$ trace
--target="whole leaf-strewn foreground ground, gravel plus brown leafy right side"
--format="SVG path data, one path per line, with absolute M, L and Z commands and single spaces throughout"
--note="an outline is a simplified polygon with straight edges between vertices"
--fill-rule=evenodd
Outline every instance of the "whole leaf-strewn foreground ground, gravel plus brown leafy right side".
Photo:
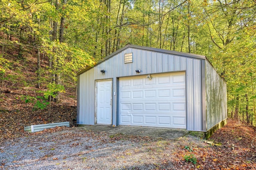
M 254 170 L 254 130 L 237 124 L 229 120 L 210 138 L 221 145 L 191 135 L 172 141 L 55 127 L 2 141 L 0 168 Z

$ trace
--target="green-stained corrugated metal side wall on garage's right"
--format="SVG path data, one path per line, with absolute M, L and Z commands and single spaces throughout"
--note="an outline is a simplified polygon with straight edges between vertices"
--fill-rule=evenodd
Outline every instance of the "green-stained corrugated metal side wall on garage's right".
M 226 82 L 206 60 L 207 130 L 227 118 Z

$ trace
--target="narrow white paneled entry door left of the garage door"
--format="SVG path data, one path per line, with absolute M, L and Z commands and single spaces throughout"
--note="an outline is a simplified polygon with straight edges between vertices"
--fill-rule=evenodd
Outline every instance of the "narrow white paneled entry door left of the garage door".
M 97 82 L 96 117 L 98 124 L 112 123 L 112 80 Z

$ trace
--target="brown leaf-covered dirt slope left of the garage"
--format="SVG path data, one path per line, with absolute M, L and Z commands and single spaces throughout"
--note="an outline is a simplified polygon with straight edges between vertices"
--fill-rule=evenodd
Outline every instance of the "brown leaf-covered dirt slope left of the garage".
M 23 135 L 24 126 L 29 125 L 62 121 L 76 125 L 76 83 L 65 82 L 66 92 L 62 93 L 59 103 L 51 103 L 51 109 L 49 105 L 45 109 L 34 109 L 35 99 L 43 96 L 40 91 L 46 90 L 48 83 L 48 59 L 41 54 L 41 77 L 45 81 L 42 81 L 40 88 L 36 88 L 36 51 L 23 47 L 22 56 L 19 56 L 18 45 L 4 48 L 5 62 L 2 67 L 5 72 L 0 72 L 0 140 Z M 26 103 L 26 99 L 30 102 Z

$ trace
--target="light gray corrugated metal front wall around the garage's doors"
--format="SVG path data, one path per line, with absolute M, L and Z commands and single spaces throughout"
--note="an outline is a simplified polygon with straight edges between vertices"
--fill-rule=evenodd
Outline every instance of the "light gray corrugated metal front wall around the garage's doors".
M 133 63 L 124 64 L 125 53 L 133 53 Z M 105 70 L 105 74 L 101 74 L 100 70 Z M 141 72 L 136 73 L 135 70 Z M 94 125 L 95 80 L 113 78 L 113 124 L 118 125 L 118 77 L 184 70 L 187 85 L 187 130 L 202 131 L 202 59 L 131 47 L 78 76 L 77 123 Z

